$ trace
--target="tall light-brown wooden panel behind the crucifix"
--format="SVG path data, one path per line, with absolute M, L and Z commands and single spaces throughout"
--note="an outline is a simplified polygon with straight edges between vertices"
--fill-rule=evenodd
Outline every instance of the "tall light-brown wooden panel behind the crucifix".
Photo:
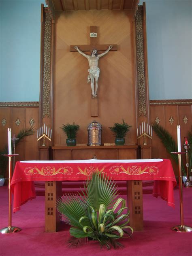
M 80 125 L 77 143 L 87 143 L 87 125 L 102 124 L 102 143 L 113 143 L 109 130 L 122 118 L 132 125 L 126 144 L 136 143 L 135 37 L 133 13 L 126 11 L 58 12 L 55 15 L 55 65 L 53 145 L 65 145 L 60 127 Z M 91 117 L 91 87 L 87 84 L 88 61 L 70 45 L 90 44 L 90 26 L 98 26 L 99 44 L 117 44 L 117 51 L 100 58 L 98 66 L 98 117 Z M 85 52 L 90 54 L 90 52 Z

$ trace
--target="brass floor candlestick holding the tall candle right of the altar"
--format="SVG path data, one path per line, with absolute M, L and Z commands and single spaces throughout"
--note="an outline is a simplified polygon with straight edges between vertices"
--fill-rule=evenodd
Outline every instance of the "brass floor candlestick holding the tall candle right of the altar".
M 186 152 L 171 152 L 171 153 L 178 154 L 178 159 L 179 159 L 179 198 L 180 198 L 180 219 L 181 219 L 181 225 L 174 226 L 171 229 L 177 232 L 191 232 L 192 228 L 185 226 L 183 221 L 183 189 L 182 189 L 182 173 L 181 173 L 181 154 L 186 154 Z

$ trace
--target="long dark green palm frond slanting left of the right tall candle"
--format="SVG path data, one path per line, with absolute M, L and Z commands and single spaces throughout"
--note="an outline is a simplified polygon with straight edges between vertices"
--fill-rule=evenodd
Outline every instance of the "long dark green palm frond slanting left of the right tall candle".
M 178 156 L 176 154 L 171 154 L 171 152 L 177 152 L 177 145 L 171 134 L 156 122 L 152 122 L 151 125 L 153 126 L 154 132 L 161 140 L 167 152 L 170 154 L 171 158 L 178 164 Z M 181 169 L 183 171 L 183 175 L 186 175 L 183 162 L 181 162 Z

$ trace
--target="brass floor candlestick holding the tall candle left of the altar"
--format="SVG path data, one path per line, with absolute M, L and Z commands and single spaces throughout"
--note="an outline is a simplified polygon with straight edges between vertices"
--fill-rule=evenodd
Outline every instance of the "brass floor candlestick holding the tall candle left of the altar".
M 12 226 L 12 215 L 11 215 L 11 178 L 12 178 L 12 172 L 11 172 L 11 158 L 12 156 L 18 156 L 18 154 L 13 155 L 2 155 L 9 157 L 9 222 L 8 227 L 0 229 L 0 233 L 2 234 L 8 234 L 8 233 L 17 233 L 21 231 L 21 228 L 13 227 Z

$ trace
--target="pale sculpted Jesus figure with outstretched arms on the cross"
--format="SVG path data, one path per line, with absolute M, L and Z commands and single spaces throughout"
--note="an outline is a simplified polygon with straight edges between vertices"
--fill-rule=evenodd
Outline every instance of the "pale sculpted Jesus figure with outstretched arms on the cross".
M 89 62 L 90 68 L 88 69 L 89 75 L 87 77 L 87 83 L 90 83 L 91 81 L 91 90 L 92 90 L 92 96 L 93 98 L 97 97 L 97 89 L 98 89 L 98 78 L 100 69 L 98 68 L 98 60 L 100 57 L 108 53 L 112 49 L 113 45 L 110 45 L 109 48 L 101 54 L 97 54 L 97 49 L 94 49 L 91 53 L 91 55 L 86 55 L 83 53 L 77 46 L 74 46 L 74 48 L 82 54 L 85 58 L 87 58 Z M 95 87 L 94 87 L 95 84 Z

